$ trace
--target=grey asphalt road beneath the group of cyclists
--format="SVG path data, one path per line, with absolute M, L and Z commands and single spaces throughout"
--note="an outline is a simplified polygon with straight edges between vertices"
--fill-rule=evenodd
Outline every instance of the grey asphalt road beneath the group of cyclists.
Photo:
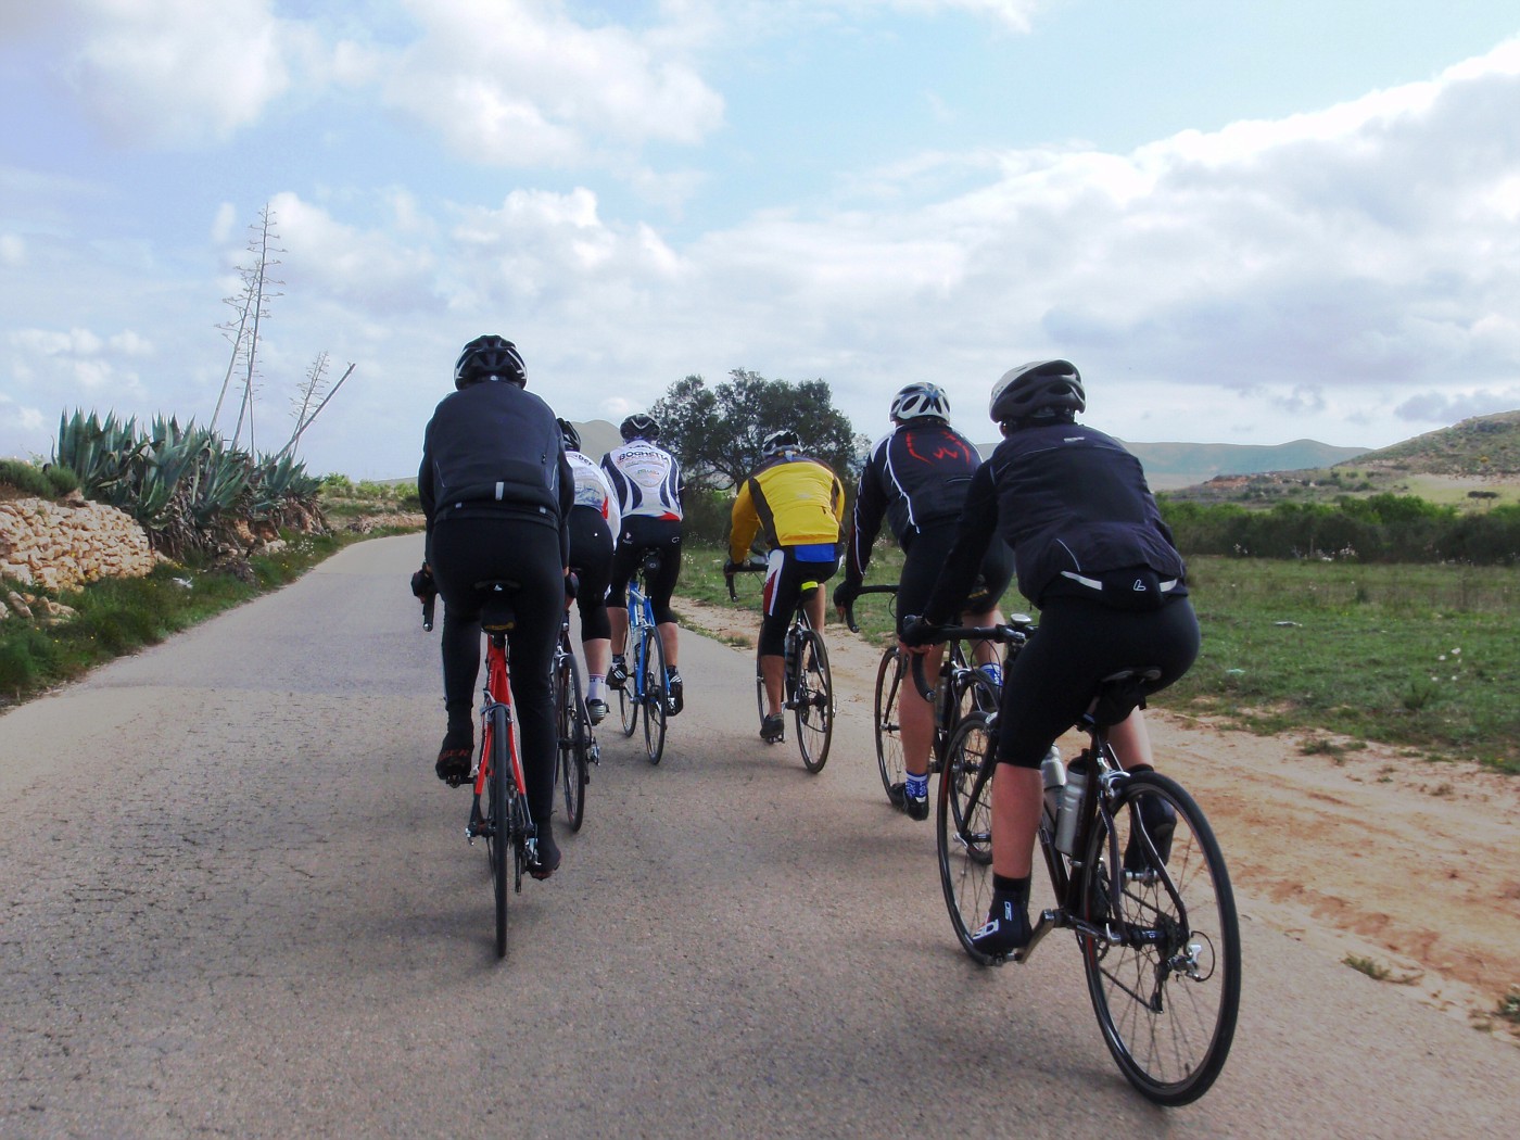
M 1520 1050 L 1249 898 L 1224 1076 L 1151 1107 L 1069 939 L 959 952 L 869 695 L 810 777 L 757 739 L 748 655 L 693 634 L 664 763 L 603 725 L 499 962 L 468 795 L 432 772 L 420 552 L 351 547 L 0 717 L 0 1135 L 1511 1134 Z

